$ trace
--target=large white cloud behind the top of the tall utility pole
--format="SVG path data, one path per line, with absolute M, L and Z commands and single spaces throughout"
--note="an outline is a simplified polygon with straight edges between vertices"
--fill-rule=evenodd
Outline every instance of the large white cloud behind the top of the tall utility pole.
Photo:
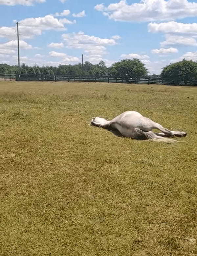
M 30 39 L 35 35 L 41 35 L 43 30 L 55 30 L 55 31 L 65 31 L 64 24 L 72 24 L 76 21 L 70 21 L 66 18 L 57 19 L 53 15 L 46 15 L 44 17 L 37 18 L 26 18 L 20 20 L 19 31 L 20 39 Z M 16 27 L 1 27 L 0 37 L 7 37 L 9 39 L 16 38 Z

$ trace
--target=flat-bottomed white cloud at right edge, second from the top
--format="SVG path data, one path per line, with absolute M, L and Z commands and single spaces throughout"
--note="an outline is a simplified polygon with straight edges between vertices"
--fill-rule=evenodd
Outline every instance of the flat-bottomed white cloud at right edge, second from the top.
M 197 23 L 181 23 L 175 21 L 163 23 L 149 23 L 148 32 L 172 33 L 172 34 L 197 34 Z

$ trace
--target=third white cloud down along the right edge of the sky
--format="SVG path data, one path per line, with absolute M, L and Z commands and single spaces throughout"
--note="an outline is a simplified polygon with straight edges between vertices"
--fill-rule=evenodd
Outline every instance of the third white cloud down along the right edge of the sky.
M 176 35 L 165 35 L 165 41 L 161 42 L 162 47 L 166 45 L 190 45 L 197 46 L 197 41 L 192 37 L 176 36 Z

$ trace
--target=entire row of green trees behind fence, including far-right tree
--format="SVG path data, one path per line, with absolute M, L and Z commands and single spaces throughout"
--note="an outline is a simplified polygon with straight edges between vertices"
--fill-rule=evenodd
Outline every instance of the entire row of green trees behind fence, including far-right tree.
M 172 80 L 174 83 L 187 84 L 188 81 L 197 80 L 197 62 L 192 60 L 185 60 L 169 64 L 165 66 L 159 75 L 153 74 L 149 76 L 149 72 L 139 59 L 123 59 L 106 67 L 104 61 L 100 61 L 99 64 L 92 64 L 86 61 L 83 64 L 78 63 L 75 65 L 59 65 L 43 66 L 38 65 L 28 66 L 22 64 L 20 67 L 21 74 L 32 75 L 65 75 L 65 76 L 113 76 L 124 78 L 140 78 L 140 77 L 158 77 L 166 80 Z M 0 73 L 3 74 L 17 74 L 18 66 L 10 66 L 8 64 L 0 64 Z

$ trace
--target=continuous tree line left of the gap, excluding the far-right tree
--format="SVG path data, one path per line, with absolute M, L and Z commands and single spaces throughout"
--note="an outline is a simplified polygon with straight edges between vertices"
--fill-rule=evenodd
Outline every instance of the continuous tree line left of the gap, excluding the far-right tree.
M 10 66 L 8 64 L 0 64 L 0 73 L 17 74 L 18 66 Z M 139 59 L 125 59 L 116 62 L 111 67 L 106 67 L 104 61 L 99 64 L 92 64 L 86 61 L 83 66 L 81 63 L 75 65 L 59 65 L 43 66 L 38 65 L 28 66 L 22 64 L 20 67 L 21 74 L 31 75 L 65 75 L 65 76 L 116 76 L 116 77 L 141 77 L 148 74 L 145 65 Z

